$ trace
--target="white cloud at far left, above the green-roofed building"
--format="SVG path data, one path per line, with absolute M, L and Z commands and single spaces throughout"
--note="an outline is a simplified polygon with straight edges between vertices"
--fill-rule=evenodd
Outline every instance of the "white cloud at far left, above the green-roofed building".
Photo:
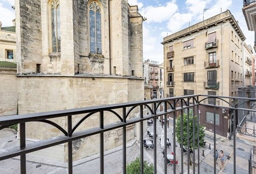
M 7 0 L 5 0 L 5 1 L 7 1 Z M 11 3 L 12 0 L 8 0 L 7 2 Z M 11 26 L 12 20 L 14 18 L 15 18 L 15 11 L 12 9 L 5 8 L 3 6 L 3 3 L 0 2 L 0 21 L 2 22 L 2 26 Z

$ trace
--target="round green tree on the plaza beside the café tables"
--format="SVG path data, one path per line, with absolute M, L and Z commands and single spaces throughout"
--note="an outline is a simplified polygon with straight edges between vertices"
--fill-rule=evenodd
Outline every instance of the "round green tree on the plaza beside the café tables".
M 198 144 L 197 144 L 197 140 L 198 140 L 198 131 L 197 131 L 197 119 L 198 117 L 195 115 L 194 116 L 194 132 L 193 132 L 193 112 L 189 113 L 189 117 L 187 116 L 186 113 L 183 114 L 183 125 L 181 125 L 181 115 L 179 115 L 179 117 L 177 118 L 176 121 L 176 137 L 177 137 L 177 141 L 181 144 L 181 129 L 183 127 L 183 145 L 187 146 L 188 144 L 188 138 L 189 138 L 189 143 L 190 143 L 190 147 L 188 148 L 188 153 L 189 153 L 189 149 L 193 149 L 193 136 L 195 138 L 195 149 L 198 149 Z M 188 137 L 188 130 L 187 130 L 187 121 L 189 119 L 189 137 Z M 199 125 L 199 146 L 203 147 L 204 144 L 204 136 L 205 136 L 205 131 L 204 131 L 204 126 Z M 190 158 L 190 165 L 192 165 L 191 163 L 191 158 Z

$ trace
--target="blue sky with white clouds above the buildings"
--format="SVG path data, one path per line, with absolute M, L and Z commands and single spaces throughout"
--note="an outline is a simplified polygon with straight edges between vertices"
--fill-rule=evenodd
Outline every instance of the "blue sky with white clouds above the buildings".
M 141 15 L 147 18 L 143 22 L 143 57 L 163 62 L 163 45 L 167 35 L 194 25 L 204 19 L 229 9 L 243 31 L 247 44 L 253 46 L 254 32 L 248 31 L 242 12 L 243 0 L 128 0 L 130 5 L 138 5 Z M 0 0 L 0 21 L 2 26 L 12 25 L 15 11 L 11 8 L 14 0 Z

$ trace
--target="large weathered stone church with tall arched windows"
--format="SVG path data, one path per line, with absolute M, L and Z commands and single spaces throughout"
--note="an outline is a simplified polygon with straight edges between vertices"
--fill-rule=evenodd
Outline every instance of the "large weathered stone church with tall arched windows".
M 15 4 L 19 114 L 144 99 L 144 18 L 137 6 L 127 0 L 16 0 Z M 137 112 L 135 108 L 127 119 Z M 83 117 L 72 116 L 72 126 Z M 66 119 L 52 121 L 66 128 Z M 77 131 L 97 127 L 98 121 L 95 113 Z M 104 113 L 104 124 L 115 121 L 119 121 L 115 114 Z M 135 138 L 137 129 L 127 127 L 127 141 Z M 49 124 L 26 124 L 28 142 L 62 134 Z M 104 136 L 104 150 L 122 144 L 122 129 Z M 98 153 L 98 138 L 73 141 L 77 147 L 73 160 Z M 29 155 L 65 162 L 67 147 L 61 144 Z

